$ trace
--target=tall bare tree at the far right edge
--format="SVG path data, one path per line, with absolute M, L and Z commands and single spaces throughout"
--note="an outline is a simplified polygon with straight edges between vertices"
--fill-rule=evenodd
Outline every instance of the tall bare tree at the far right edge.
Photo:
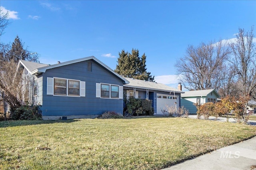
M 230 44 L 234 57 L 229 61 L 241 84 L 240 95 L 243 96 L 252 96 L 256 88 L 256 49 L 253 38 L 253 27 L 249 32 L 239 28 L 235 42 Z

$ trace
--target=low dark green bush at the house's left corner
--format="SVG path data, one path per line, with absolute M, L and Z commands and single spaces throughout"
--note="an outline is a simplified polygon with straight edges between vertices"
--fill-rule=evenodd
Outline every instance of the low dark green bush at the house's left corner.
M 34 105 L 28 106 L 24 105 L 14 110 L 11 118 L 14 120 L 38 120 L 42 119 L 41 106 Z

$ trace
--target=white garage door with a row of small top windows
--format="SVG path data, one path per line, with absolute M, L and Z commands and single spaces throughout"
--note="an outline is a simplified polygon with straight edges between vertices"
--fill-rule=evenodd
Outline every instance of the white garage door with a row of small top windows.
M 177 109 L 179 108 L 178 96 L 166 95 L 166 94 L 156 94 L 156 113 L 163 114 L 162 110 L 168 107 L 173 107 L 175 109 L 175 102 L 177 103 Z

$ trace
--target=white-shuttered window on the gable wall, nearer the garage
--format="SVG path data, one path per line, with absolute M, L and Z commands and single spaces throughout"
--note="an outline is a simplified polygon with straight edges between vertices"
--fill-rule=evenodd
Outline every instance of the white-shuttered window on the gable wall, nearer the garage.
M 123 86 L 116 84 L 96 83 L 96 98 L 122 99 Z

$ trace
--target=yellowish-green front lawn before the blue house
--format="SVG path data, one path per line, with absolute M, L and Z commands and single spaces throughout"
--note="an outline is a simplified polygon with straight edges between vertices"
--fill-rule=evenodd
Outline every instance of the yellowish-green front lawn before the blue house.
M 254 135 L 181 117 L 1 121 L 0 169 L 161 169 Z

